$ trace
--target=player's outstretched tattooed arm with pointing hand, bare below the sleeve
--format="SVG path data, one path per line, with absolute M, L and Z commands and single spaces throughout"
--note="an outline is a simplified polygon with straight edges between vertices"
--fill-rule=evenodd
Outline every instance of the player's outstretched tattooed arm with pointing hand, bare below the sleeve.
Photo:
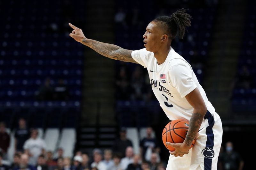
M 69 34 L 70 37 L 74 38 L 76 41 L 84 44 L 85 46 L 92 48 L 97 53 L 111 59 L 137 63 L 132 59 L 132 50 L 124 49 L 114 44 L 88 39 L 84 36 L 82 29 L 77 28 L 70 23 L 69 26 L 74 29 L 72 33 Z

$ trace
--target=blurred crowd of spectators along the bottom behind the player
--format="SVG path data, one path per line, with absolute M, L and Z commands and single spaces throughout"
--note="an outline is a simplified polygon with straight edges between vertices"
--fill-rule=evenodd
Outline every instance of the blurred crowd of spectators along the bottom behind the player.
M 44 140 L 38 137 L 36 129 L 29 130 L 24 119 L 19 120 L 15 130 L 15 153 L 12 162 L 7 159 L 10 136 L 4 122 L 0 122 L 0 169 L 1 170 L 165 170 L 166 162 L 161 161 L 160 147 L 147 128 L 147 136 L 140 141 L 140 153 L 135 154 L 126 129 L 120 130 L 112 148 L 92 150 L 92 153 L 77 151 L 73 159 L 64 157 L 65 148 L 58 148 L 55 156 L 46 151 Z M 234 151 L 231 142 L 226 143 L 226 152 L 221 148 L 219 169 L 242 170 L 244 161 Z

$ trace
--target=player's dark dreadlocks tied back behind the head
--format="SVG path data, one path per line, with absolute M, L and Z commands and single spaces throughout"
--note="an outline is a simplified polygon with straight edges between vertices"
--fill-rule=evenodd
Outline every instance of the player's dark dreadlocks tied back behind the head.
M 183 39 L 185 31 L 188 26 L 191 26 L 192 17 L 186 13 L 187 10 L 179 9 L 172 13 L 171 16 L 161 16 L 157 17 L 153 21 L 159 22 L 160 24 L 167 26 L 166 34 L 170 34 L 171 39 L 175 38 L 177 33 L 179 33 L 179 38 Z

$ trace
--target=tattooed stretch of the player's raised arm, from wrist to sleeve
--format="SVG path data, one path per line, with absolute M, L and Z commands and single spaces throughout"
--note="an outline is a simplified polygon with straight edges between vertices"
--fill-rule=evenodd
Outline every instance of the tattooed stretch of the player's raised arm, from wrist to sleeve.
M 132 50 L 121 48 L 114 44 L 103 43 L 100 41 L 84 39 L 82 44 L 92 48 L 97 53 L 115 60 L 137 63 L 132 58 Z

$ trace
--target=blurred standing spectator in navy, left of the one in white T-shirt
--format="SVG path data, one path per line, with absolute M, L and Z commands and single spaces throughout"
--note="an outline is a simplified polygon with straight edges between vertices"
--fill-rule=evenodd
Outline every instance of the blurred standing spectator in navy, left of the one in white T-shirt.
M 29 138 L 29 129 L 27 128 L 26 120 L 20 118 L 19 128 L 15 131 L 15 150 L 23 152 L 23 145 Z

